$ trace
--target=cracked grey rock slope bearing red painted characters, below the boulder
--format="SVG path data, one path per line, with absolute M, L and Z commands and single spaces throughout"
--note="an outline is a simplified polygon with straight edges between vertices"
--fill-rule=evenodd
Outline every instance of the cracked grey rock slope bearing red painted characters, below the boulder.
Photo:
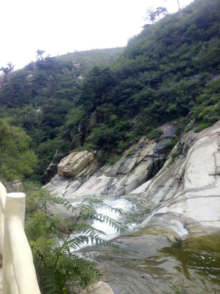
M 114 166 L 104 166 L 93 176 L 91 176 L 91 171 L 92 168 L 97 167 L 97 161 L 91 161 L 91 164 L 75 175 L 74 179 L 62 176 L 64 173 L 59 172 L 58 165 L 58 175 L 46 186 L 69 201 L 87 197 L 115 197 L 128 194 L 150 179 L 154 169 L 157 171 L 160 162 L 165 161 L 168 155 L 168 152 L 164 151 L 165 142 L 175 136 L 175 128 L 175 123 L 161 126 L 164 134 L 158 143 L 142 137 L 138 143 L 124 153 L 124 156 Z

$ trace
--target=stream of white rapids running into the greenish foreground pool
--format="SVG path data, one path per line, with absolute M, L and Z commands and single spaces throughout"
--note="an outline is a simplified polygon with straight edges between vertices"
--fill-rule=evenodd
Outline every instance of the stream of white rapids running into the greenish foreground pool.
M 119 251 L 105 247 L 84 246 L 79 251 L 99 265 L 104 281 L 115 294 L 146 293 L 220 293 L 220 232 L 183 225 L 176 218 L 154 218 L 145 227 L 141 222 L 151 209 L 146 200 L 120 198 L 106 200 L 123 209 L 120 216 L 108 206 L 97 210 L 121 221 L 130 234 L 120 236 L 103 223 L 93 226 L 114 238 Z M 176 288 L 178 286 L 179 292 Z

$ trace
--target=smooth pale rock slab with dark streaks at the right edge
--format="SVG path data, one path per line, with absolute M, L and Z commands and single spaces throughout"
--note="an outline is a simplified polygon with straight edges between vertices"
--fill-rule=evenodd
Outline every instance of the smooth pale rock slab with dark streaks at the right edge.
M 182 222 L 220 226 L 220 122 L 200 133 L 190 131 L 180 141 L 180 156 L 130 195 L 147 198 L 155 216 L 176 216 Z M 177 146 L 175 147 L 177 148 Z

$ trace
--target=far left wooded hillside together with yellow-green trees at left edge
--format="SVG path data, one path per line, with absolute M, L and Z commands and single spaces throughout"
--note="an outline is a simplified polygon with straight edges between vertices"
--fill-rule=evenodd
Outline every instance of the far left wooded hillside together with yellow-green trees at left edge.
M 62 126 L 66 115 L 75 108 L 74 99 L 83 77 L 94 66 L 110 66 L 122 51 L 123 48 L 94 49 L 46 58 L 40 51 L 36 62 L 23 69 L 10 71 L 9 66 L 2 70 L 1 180 L 30 178 L 34 171 L 33 179 L 42 181 L 42 174 L 53 160 L 57 147 L 63 145 L 60 137 L 65 127 Z M 86 109 L 83 111 L 86 113 Z M 24 136 L 26 139 L 22 143 Z M 20 143 L 17 144 L 17 141 Z M 69 146 L 65 147 L 66 151 Z M 27 151 L 32 157 L 23 161 L 22 170 L 18 168 L 21 165 L 20 156 L 24 157 L 21 152 Z M 15 159 L 18 162 L 14 166 Z

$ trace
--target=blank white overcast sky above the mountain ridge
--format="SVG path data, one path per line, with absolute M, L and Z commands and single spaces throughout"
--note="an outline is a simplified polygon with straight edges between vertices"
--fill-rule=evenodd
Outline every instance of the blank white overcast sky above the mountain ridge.
M 56 56 L 126 46 L 142 30 L 149 6 L 178 10 L 177 0 L 2 0 L 0 68 L 9 61 L 22 68 L 37 49 Z

